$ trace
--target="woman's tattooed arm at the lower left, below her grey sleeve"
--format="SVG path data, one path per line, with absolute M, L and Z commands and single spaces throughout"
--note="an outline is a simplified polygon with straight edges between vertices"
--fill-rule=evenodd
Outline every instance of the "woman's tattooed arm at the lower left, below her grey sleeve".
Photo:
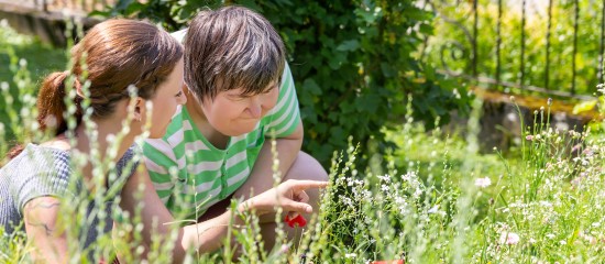
M 67 263 L 67 239 L 57 224 L 61 201 L 56 197 L 34 198 L 23 207 L 23 220 L 28 240 L 33 243 L 35 263 Z

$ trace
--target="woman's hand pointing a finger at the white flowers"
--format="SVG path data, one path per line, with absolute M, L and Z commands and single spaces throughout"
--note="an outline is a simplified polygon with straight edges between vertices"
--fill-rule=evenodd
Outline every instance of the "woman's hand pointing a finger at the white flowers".
M 239 210 L 254 210 L 256 215 L 274 212 L 277 207 L 284 211 L 310 213 L 312 207 L 307 204 L 309 196 L 305 193 L 309 188 L 324 188 L 328 182 L 288 179 L 267 191 L 254 196 L 240 205 Z

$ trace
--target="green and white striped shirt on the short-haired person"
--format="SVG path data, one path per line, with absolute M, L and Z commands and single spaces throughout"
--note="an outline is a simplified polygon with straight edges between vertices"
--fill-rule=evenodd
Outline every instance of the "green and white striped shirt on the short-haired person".
M 298 99 L 286 64 L 276 106 L 246 134 L 232 136 L 226 150 L 215 147 L 179 107 L 163 139 L 143 145 L 145 164 L 157 195 L 175 217 L 201 216 L 245 183 L 265 135 L 292 134 L 300 120 Z M 197 209 L 197 212 L 196 212 Z

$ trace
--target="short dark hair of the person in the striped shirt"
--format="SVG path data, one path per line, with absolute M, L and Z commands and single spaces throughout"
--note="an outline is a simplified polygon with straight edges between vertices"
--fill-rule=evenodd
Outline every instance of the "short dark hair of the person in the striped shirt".
M 242 7 L 199 12 L 185 37 L 185 82 L 200 100 L 242 88 L 264 92 L 279 81 L 285 47 L 261 14 Z

